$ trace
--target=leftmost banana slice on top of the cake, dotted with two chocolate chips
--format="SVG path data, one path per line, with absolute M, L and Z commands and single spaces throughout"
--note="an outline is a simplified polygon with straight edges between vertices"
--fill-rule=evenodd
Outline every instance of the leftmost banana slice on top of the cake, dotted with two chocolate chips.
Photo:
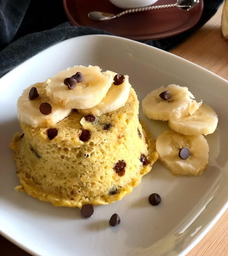
M 31 125 L 32 127 L 50 127 L 55 126 L 56 123 L 67 117 L 71 113 L 71 109 L 63 109 L 52 103 L 46 94 L 46 86 L 49 80 L 44 83 L 35 83 L 25 89 L 22 95 L 17 100 L 17 115 L 18 119 Z M 29 99 L 30 90 L 32 87 L 37 88 L 37 94 L 33 94 L 33 99 Z M 52 107 L 50 114 L 42 114 L 40 112 L 40 105 L 42 103 L 49 103 Z

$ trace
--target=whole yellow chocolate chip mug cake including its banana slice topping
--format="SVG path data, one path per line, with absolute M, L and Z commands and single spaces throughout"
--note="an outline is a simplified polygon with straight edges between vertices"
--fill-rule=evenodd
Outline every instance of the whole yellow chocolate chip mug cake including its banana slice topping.
M 54 206 L 121 200 L 158 155 L 138 119 L 128 76 L 74 66 L 25 89 L 17 102 L 22 133 L 14 151 L 16 187 Z

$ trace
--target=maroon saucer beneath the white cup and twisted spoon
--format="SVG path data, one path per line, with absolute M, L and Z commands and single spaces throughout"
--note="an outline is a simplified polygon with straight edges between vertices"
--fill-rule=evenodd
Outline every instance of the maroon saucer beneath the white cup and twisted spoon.
M 175 0 L 159 0 L 155 5 L 171 4 Z M 161 39 L 180 34 L 193 27 L 203 11 L 203 0 L 190 11 L 177 7 L 129 13 L 107 21 L 94 21 L 88 17 L 91 11 L 120 13 L 108 0 L 63 0 L 67 17 L 73 26 L 99 28 L 116 36 L 133 40 Z

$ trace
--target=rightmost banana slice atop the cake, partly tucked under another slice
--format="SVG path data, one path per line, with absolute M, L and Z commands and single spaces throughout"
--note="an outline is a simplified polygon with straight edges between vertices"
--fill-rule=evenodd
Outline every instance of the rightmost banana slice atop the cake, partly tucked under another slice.
M 102 74 L 104 74 L 105 76 L 111 76 L 112 80 L 115 75 L 117 75 L 112 71 L 106 71 Z M 84 115 L 91 113 L 95 116 L 100 116 L 102 114 L 109 113 L 124 106 L 128 99 L 131 88 L 131 85 L 128 81 L 128 76 L 125 75 L 124 77 L 125 80 L 120 85 L 114 85 L 112 83 L 106 96 L 95 107 L 88 109 L 79 109 L 78 111 Z

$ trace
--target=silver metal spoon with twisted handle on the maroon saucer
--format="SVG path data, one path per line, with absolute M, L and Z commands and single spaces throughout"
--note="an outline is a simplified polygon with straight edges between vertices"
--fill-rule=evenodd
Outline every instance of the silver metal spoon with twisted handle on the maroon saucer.
M 181 9 L 182 11 L 189 11 L 192 8 L 196 7 L 196 5 L 198 3 L 199 3 L 199 0 L 177 0 L 177 2 L 173 3 L 173 4 L 151 5 L 151 6 L 146 6 L 146 7 L 128 9 L 128 10 L 125 10 L 118 14 L 103 13 L 103 12 L 95 11 L 95 12 L 88 13 L 88 16 L 92 20 L 105 21 L 105 20 L 110 20 L 113 18 L 121 17 L 122 15 L 127 14 L 127 13 L 136 13 L 136 12 L 150 11 L 150 10 L 156 10 L 156 9 L 165 9 L 165 8 L 172 8 L 172 7 L 177 7 L 179 9 Z

